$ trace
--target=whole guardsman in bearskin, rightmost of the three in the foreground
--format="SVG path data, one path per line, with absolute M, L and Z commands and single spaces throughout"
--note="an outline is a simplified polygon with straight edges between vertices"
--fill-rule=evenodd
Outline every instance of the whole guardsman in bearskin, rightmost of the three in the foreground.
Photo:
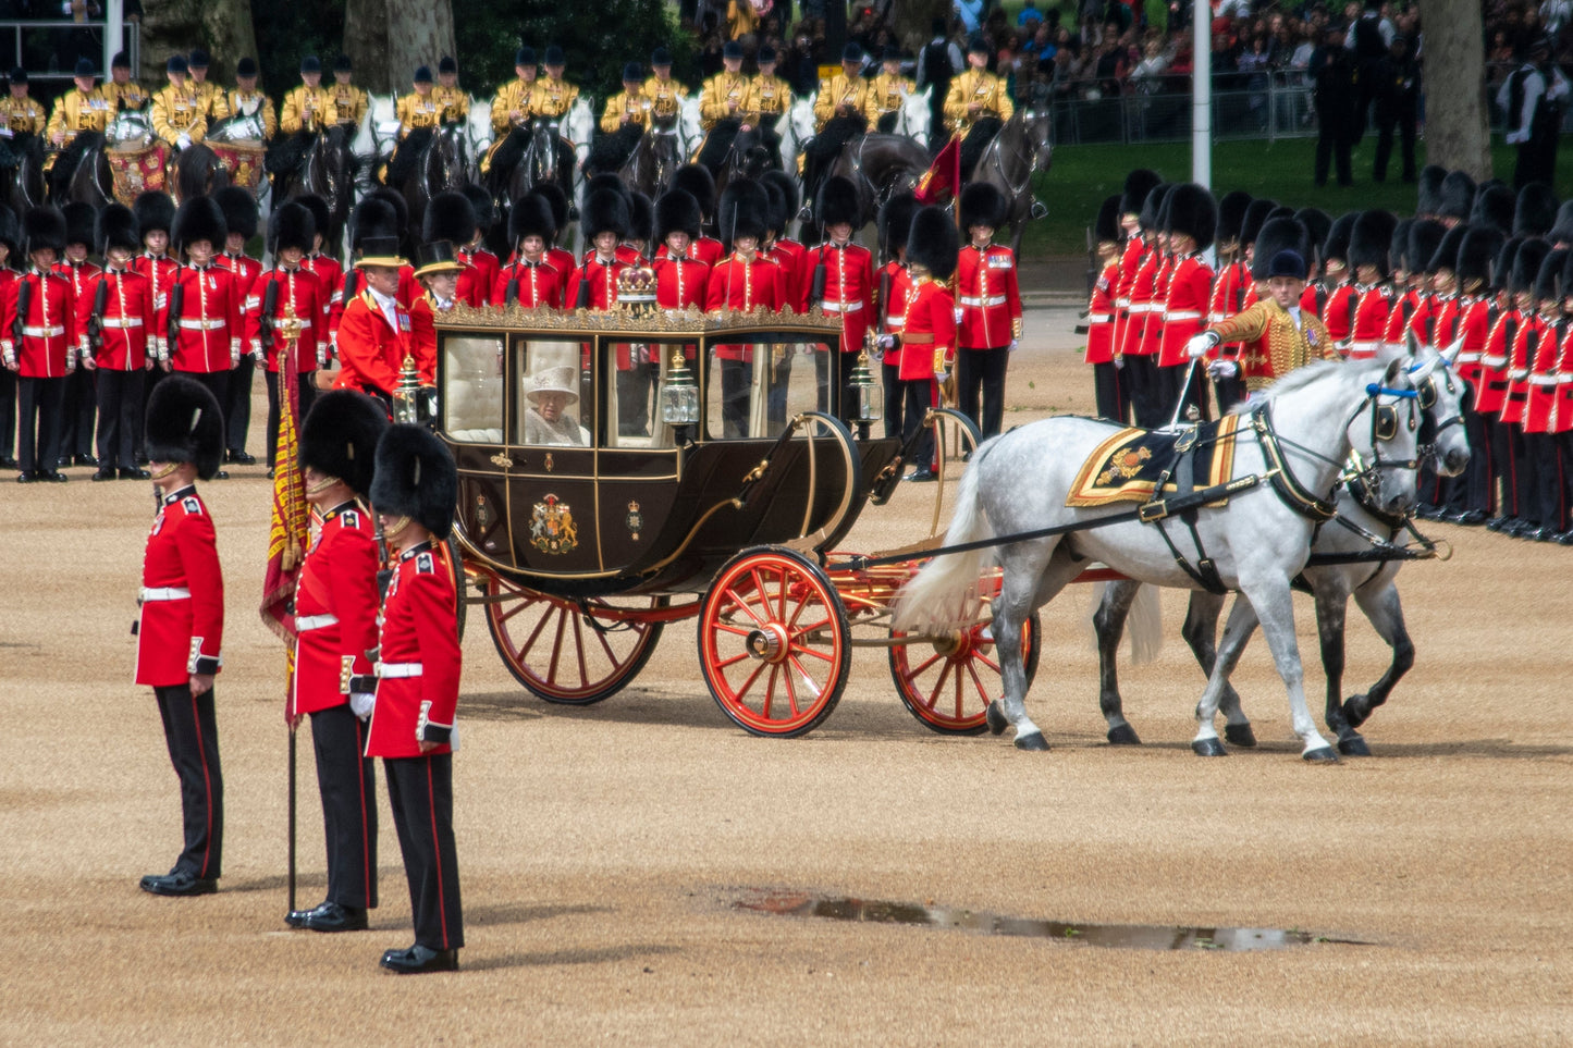
M 371 505 L 398 562 L 382 603 L 367 755 L 382 757 L 415 917 L 415 943 L 382 955 L 401 974 L 453 971 L 464 946 L 453 843 L 461 568 L 445 546 L 458 496 L 453 458 L 431 431 L 401 425 L 382 436 Z

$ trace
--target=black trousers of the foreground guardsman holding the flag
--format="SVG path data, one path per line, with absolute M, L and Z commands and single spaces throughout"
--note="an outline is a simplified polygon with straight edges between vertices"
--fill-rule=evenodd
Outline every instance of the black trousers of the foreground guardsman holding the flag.
M 351 910 L 378 905 L 378 793 L 367 725 L 348 705 L 311 714 L 316 787 L 327 840 L 327 902 Z

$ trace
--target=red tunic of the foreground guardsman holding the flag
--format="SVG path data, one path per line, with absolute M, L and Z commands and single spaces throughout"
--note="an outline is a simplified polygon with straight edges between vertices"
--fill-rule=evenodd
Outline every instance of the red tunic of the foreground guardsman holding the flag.
M 371 515 L 335 507 L 296 582 L 296 669 L 286 716 L 349 702 L 349 677 L 370 675 L 378 645 L 378 557 Z

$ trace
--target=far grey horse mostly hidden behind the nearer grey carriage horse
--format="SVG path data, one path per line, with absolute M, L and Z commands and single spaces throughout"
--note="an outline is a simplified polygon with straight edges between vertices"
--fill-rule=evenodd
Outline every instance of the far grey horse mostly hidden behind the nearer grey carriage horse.
M 1420 436 L 1422 439 L 1430 437 L 1430 442 L 1422 445 L 1424 456 L 1435 459 L 1439 474 L 1457 477 L 1469 464 L 1469 437 L 1463 426 L 1464 382 L 1452 371 L 1460 345 L 1438 354 L 1430 346 L 1417 346 L 1413 335 L 1408 341 L 1416 368 L 1425 367 L 1431 360 L 1441 362 L 1441 367 L 1420 384 L 1419 403 L 1425 412 Z M 1394 685 L 1414 664 L 1414 644 L 1403 626 L 1403 607 L 1395 584 L 1398 568 L 1403 566 L 1402 554 L 1376 560 L 1372 557 L 1409 546 L 1411 535 L 1408 518 L 1395 518 L 1372 507 L 1370 493 L 1362 485 L 1340 486 L 1337 502 L 1339 515 L 1317 532 L 1310 548 L 1310 563 L 1301 578 L 1310 585 L 1317 601 L 1321 664 L 1328 678 L 1326 724 L 1339 736 L 1340 754 L 1364 757 L 1370 754 L 1370 747 L 1356 729 L 1365 722 L 1373 707 L 1387 700 Z M 1383 549 L 1378 543 L 1389 549 Z M 1140 600 L 1139 589 L 1142 587 L 1137 582 L 1111 582 L 1101 604 L 1093 612 L 1100 656 L 1098 705 L 1109 724 L 1109 743 L 1115 746 L 1140 744 L 1136 729 L 1125 719 L 1115 672 L 1120 631 L 1133 601 Z M 1343 631 L 1350 596 L 1392 648 L 1392 664 L 1369 692 L 1343 700 Z M 1227 659 L 1232 669 L 1257 625 L 1255 614 L 1249 603 L 1244 603 L 1238 622 L 1241 636 L 1225 639 L 1225 645 L 1219 651 L 1216 648 L 1218 620 L 1224 611 L 1224 600 L 1222 595 L 1192 592 L 1191 607 L 1181 628 L 1181 636 L 1191 645 L 1191 651 L 1205 673 L 1213 672 L 1219 655 Z M 1236 598 L 1236 604 L 1241 603 Z M 1145 637 L 1137 636 L 1142 625 L 1153 629 L 1158 626 L 1156 622 L 1142 623 L 1140 618 L 1131 618 L 1131 636 L 1137 648 L 1145 644 Z M 1240 696 L 1232 686 L 1224 688 L 1219 708 L 1227 718 L 1224 738 L 1236 746 L 1255 746 L 1251 721 L 1241 710 Z

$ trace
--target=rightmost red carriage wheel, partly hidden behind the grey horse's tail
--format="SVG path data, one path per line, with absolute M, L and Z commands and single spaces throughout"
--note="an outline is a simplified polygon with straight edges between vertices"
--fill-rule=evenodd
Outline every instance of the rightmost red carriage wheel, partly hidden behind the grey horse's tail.
M 1038 672 L 1041 634 L 1043 623 L 1033 614 L 1021 628 L 1021 655 L 1029 685 Z M 906 634 L 892 629 L 890 636 L 900 639 Z M 999 648 L 986 625 L 892 645 L 890 680 L 912 716 L 945 735 L 980 733 L 986 727 L 988 703 L 1004 688 Z

